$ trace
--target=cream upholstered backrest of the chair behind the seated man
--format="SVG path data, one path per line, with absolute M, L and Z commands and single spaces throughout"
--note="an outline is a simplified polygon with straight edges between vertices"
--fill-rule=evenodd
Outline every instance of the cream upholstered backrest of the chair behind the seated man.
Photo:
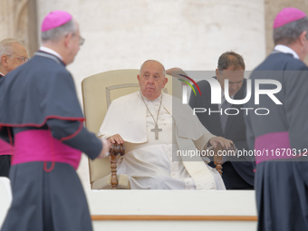
M 139 70 L 115 70 L 91 75 L 82 81 L 82 100 L 85 126 L 98 134 L 101 122 L 114 99 L 139 91 Z M 168 83 L 163 91 L 172 94 L 172 77 L 166 75 Z M 177 84 L 180 84 L 179 81 Z M 90 182 L 111 173 L 110 159 L 89 159 Z

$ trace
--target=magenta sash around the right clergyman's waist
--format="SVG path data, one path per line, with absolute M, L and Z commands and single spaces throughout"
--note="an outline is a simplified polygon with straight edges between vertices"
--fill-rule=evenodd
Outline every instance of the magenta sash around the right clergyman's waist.
M 298 158 L 291 148 L 289 132 L 272 132 L 255 139 L 255 163 L 274 159 Z

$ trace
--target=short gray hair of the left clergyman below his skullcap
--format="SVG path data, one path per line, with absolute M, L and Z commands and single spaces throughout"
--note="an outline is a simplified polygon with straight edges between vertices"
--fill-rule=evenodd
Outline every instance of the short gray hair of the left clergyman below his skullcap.
M 76 31 L 77 31 L 77 26 L 74 20 L 72 19 L 66 24 L 63 24 L 51 30 L 42 32 L 41 34 L 42 42 L 47 42 L 47 41 L 56 42 L 59 39 L 61 39 L 63 36 L 65 36 L 66 34 L 70 34 L 70 33 L 74 34 Z

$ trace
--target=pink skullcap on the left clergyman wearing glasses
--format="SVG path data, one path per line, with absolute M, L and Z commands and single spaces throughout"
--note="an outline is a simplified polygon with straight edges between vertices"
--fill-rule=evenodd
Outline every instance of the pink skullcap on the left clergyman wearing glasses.
M 41 31 L 45 32 L 51 30 L 53 28 L 66 24 L 70 20 L 72 20 L 71 14 L 65 11 L 53 11 L 44 17 Z

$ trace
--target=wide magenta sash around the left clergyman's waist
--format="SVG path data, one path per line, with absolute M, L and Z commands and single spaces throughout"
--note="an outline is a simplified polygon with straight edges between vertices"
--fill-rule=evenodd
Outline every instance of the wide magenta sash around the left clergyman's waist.
M 81 157 L 82 151 L 72 149 L 60 140 L 54 139 L 50 130 L 24 130 L 14 136 L 12 165 L 53 161 L 67 163 L 77 169 Z

